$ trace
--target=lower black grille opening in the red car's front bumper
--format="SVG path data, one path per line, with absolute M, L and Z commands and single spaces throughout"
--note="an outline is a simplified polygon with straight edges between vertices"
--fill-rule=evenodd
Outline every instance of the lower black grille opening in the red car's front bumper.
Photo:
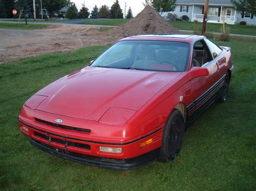
M 43 135 L 42 133 L 38 133 L 36 131 L 34 131 L 34 135 L 37 137 L 41 137 L 43 139 L 49 140 L 49 136 Z M 87 145 L 87 144 L 80 144 L 80 143 L 75 143 L 75 142 L 69 142 L 67 140 L 63 140 L 62 137 L 59 137 L 60 139 L 51 137 L 51 142 L 55 142 L 55 143 L 60 143 L 63 145 L 68 144 L 68 146 L 73 146 L 73 147 L 78 147 L 78 148 L 84 148 L 87 150 L 91 150 L 91 146 Z

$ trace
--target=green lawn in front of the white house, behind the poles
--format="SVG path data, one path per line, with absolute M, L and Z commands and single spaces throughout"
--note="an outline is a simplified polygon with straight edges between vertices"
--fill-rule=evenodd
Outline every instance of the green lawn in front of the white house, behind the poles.
M 202 23 L 199 22 L 178 22 L 174 20 L 169 20 L 169 23 L 172 24 L 179 30 L 190 30 L 193 31 L 194 26 L 200 27 Z M 206 30 L 207 32 L 220 32 L 220 29 L 223 25 L 218 23 L 207 23 Z M 228 25 L 230 27 L 230 33 L 232 34 L 246 34 L 256 36 L 256 26 L 250 25 Z

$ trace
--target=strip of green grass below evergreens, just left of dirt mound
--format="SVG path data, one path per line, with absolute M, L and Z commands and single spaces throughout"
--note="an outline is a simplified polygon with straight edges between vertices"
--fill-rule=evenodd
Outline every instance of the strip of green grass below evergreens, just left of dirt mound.
M 110 25 L 110 26 L 118 26 L 124 23 L 129 22 L 129 19 L 99 19 L 99 20 L 85 20 L 84 24 L 86 25 Z

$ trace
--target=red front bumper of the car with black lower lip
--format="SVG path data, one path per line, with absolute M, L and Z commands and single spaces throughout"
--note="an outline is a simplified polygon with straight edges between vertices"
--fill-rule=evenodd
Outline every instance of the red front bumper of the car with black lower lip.
M 90 125 L 92 126 L 92 125 Z M 158 158 L 163 127 L 159 126 L 147 135 L 125 142 L 102 142 L 92 139 L 92 133 L 61 129 L 51 124 L 19 117 L 21 131 L 30 138 L 32 145 L 58 157 L 86 165 L 111 169 L 133 169 Z M 93 126 L 94 127 L 94 126 Z M 93 129 L 94 131 L 94 129 Z M 147 139 L 154 142 L 140 147 Z M 122 153 L 99 151 L 100 146 L 121 147 Z

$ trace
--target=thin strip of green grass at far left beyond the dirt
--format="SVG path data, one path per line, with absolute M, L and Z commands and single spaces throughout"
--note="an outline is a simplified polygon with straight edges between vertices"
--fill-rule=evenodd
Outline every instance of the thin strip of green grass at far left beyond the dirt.
M 48 27 L 48 24 L 31 24 L 26 25 L 25 23 L 1 23 L 0 29 L 22 29 L 22 30 L 34 30 L 44 29 Z

